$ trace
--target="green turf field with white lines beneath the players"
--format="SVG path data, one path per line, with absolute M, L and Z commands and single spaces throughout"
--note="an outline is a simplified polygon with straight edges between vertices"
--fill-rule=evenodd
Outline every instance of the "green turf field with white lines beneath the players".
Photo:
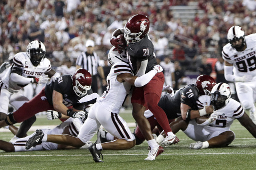
M 127 122 L 134 122 L 130 113 L 120 114 Z M 57 125 L 37 117 L 34 125 Z M 134 127 L 130 128 L 133 131 Z M 85 149 L 5 153 L 0 151 L 0 170 L 256 170 L 256 140 L 238 121 L 231 126 L 236 139 L 228 147 L 190 150 L 193 142 L 182 132 L 180 142 L 164 149 L 155 161 L 144 161 L 147 143 L 125 151 L 102 151 L 104 163 L 95 163 Z M 28 132 L 31 134 L 32 132 Z M 0 139 L 9 141 L 13 135 L 2 132 Z M 92 138 L 94 142 L 96 137 Z

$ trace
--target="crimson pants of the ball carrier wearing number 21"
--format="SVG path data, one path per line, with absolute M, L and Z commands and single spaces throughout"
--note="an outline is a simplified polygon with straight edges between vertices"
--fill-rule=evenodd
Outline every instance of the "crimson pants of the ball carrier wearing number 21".
M 134 87 L 131 103 L 138 103 L 148 108 L 167 136 L 167 132 L 171 132 L 168 119 L 165 112 L 157 105 L 161 97 L 163 83 L 164 75 L 160 72 L 143 87 Z

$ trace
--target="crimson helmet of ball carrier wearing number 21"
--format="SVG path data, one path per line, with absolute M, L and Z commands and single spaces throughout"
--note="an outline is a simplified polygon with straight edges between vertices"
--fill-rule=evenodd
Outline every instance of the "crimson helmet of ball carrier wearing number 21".
M 124 38 L 128 43 L 138 42 L 149 32 L 149 19 L 142 14 L 129 18 L 124 25 Z

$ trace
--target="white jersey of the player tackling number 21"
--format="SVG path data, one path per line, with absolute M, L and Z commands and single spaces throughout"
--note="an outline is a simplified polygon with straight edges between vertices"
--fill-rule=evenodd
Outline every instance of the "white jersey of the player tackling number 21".
M 127 63 L 117 62 L 112 65 L 106 77 L 106 91 L 104 91 L 97 101 L 99 104 L 103 105 L 106 110 L 113 113 L 119 113 L 122 104 L 131 90 L 130 84 L 127 82 L 120 83 L 116 80 L 117 75 L 122 73 L 132 74 L 131 68 Z

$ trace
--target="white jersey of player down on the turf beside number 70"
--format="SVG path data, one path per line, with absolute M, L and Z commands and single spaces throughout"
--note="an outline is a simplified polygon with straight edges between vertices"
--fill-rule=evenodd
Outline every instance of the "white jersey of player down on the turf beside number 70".
M 210 96 L 200 96 L 198 100 L 203 104 L 210 105 Z M 240 118 L 244 114 L 240 103 L 232 98 L 230 98 L 229 102 L 223 108 L 218 109 L 217 112 L 220 113 L 218 118 L 205 128 L 221 127 L 230 129 L 233 120 Z

